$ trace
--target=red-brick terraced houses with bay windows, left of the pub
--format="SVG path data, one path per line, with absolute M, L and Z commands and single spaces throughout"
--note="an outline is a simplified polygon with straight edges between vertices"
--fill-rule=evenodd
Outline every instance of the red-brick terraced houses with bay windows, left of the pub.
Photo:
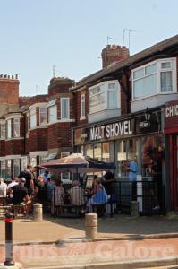
M 44 95 L 19 97 L 17 75 L 0 76 L 1 177 L 72 152 L 74 81 L 52 78 Z M 69 175 L 63 174 L 65 179 Z

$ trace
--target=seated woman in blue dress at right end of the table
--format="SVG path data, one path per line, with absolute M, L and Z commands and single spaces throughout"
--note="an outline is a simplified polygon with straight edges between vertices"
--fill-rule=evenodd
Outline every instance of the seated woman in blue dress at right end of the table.
M 106 204 L 108 201 L 105 187 L 101 185 L 99 178 L 94 180 L 93 185 L 93 195 L 91 196 L 91 198 L 89 198 L 89 201 L 87 203 L 89 212 L 92 212 L 93 204 Z

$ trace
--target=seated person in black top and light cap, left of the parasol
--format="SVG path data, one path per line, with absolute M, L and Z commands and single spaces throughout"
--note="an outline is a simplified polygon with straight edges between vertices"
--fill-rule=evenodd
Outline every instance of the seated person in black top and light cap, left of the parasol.
M 28 195 L 27 187 L 24 187 L 26 182 L 25 178 L 20 178 L 19 184 L 12 187 L 13 194 L 13 204 L 21 204 L 23 206 L 23 211 L 26 214 L 29 214 L 30 209 L 30 196 Z

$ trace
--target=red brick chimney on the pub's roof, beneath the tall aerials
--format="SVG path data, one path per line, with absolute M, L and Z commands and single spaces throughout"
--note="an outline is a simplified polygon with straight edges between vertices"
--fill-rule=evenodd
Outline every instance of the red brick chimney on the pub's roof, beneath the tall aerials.
M 103 48 L 101 56 L 103 68 L 106 68 L 128 58 L 129 48 L 118 45 L 107 45 L 106 48 Z

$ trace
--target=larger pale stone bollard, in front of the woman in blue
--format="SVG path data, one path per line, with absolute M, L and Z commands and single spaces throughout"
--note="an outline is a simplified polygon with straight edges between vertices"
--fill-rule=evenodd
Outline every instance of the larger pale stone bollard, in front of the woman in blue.
M 97 214 L 85 214 L 85 233 L 86 238 L 97 239 Z

